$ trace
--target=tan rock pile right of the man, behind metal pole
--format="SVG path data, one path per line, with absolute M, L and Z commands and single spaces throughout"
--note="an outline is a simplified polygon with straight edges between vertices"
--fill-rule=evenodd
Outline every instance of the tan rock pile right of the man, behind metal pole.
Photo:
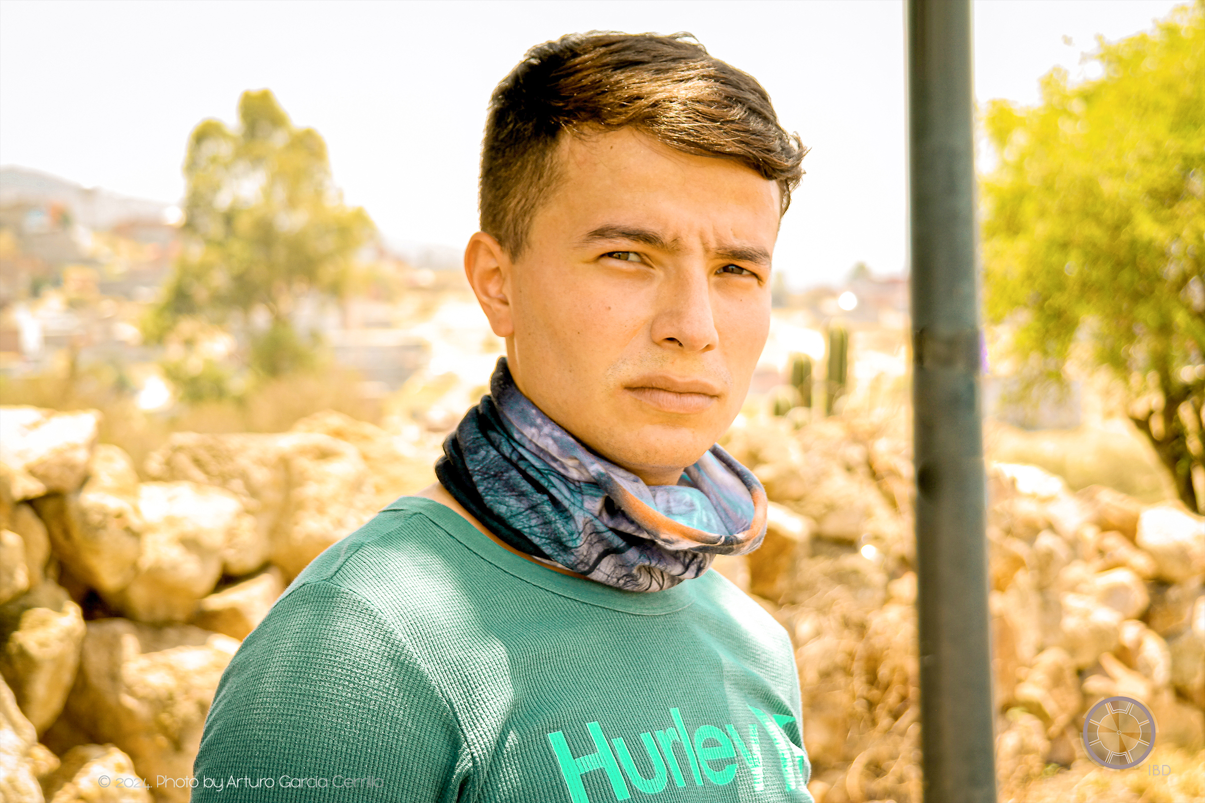
M 922 799 L 911 455 L 883 429 L 754 418 L 724 439 L 774 512 L 719 568 L 794 637 L 818 803 Z M 988 477 L 1001 793 L 1087 772 L 1083 715 L 1113 695 L 1151 708 L 1157 744 L 1205 749 L 1205 519 L 1033 466 Z

